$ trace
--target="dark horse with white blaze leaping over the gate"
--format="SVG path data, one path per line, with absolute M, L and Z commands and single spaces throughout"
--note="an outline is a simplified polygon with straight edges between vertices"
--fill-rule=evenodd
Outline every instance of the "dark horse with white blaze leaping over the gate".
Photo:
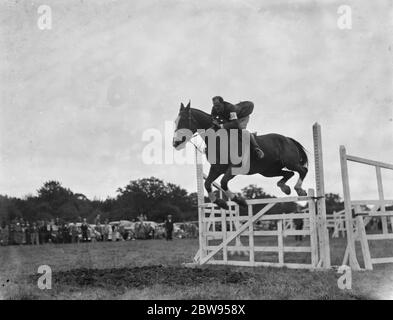
M 198 109 L 190 108 L 190 103 L 188 103 L 187 107 L 184 107 L 182 103 L 180 105 L 179 115 L 176 119 L 173 146 L 177 150 L 180 150 L 185 147 L 185 144 L 195 133 L 197 133 L 197 131 L 203 132 L 203 130 L 208 130 L 211 127 L 212 117 L 210 114 Z M 201 136 L 205 140 L 207 150 L 210 150 L 210 140 L 207 138 L 207 135 L 201 134 Z M 278 181 L 277 186 L 280 187 L 282 192 L 289 195 L 291 193 L 291 188 L 285 183 L 293 177 L 294 171 L 298 172 L 299 179 L 294 189 L 299 196 L 307 195 L 306 191 L 302 189 L 303 180 L 308 172 L 308 158 L 304 147 L 296 140 L 276 133 L 264 134 L 257 136 L 256 138 L 259 146 L 265 153 L 265 156 L 263 159 L 258 159 L 256 155 L 250 151 L 249 170 L 245 174 L 252 175 L 259 173 L 265 177 L 282 177 L 282 179 Z M 218 140 L 221 143 L 221 139 Z M 229 144 L 227 145 L 227 148 L 229 149 Z M 217 149 L 219 149 L 219 151 L 221 150 L 218 143 Z M 246 205 L 244 199 L 233 195 L 228 189 L 228 182 L 236 175 L 233 174 L 233 168 L 236 166 L 237 165 L 234 165 L 230 161 L 229 163 L 215 161 L 211 163 L 209 175 L 205 180 L 205 188 L 209 193 L 210 200 L 224 209 L 228 208 L 226 202 L 222 199 L 216 199 L 212 192 L 212 183 L 222 174 L 224 174 L 224 176 L 221 179 L 221 187 L 224 189 L 228 198 L 239 205 Z

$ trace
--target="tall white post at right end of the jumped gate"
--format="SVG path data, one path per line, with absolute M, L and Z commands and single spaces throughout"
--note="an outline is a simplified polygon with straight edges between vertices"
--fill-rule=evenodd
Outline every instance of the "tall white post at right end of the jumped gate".
M 322 134 L 318 123 L 313 125 L 314 160 L 315 160 L 315 185 L 317 200 L 317 218 L 320 221 L 319 234 L 322 238 L 320 256 L 324 268 L 330 268 L 329 230 L 326 221 L 325 183 L 323 172 Z

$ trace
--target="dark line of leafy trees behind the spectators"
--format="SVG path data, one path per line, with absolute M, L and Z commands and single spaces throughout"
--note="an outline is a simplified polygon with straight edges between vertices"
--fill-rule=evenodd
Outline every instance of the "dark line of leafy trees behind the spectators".
M 239 193 L 246 199 L 273 198 L 255 185 L 249 185 Z M 206 199 L 206 202 L 209 200 Z M 328 213 L 332 213 L 342 210 L 344 205 L 337 194 L 327 194 L 326 207 Z M 274 206 L 271 213 L 289 213 L 299 209 L 302 208 L 296 203 L 282 203 Z M 173 216 L 174 221 L 195 221 L 198 220 L 197 193 L 188 193 L 178 185 L 150 177 L 131 180 L 125 187 L 117 189 L 115 197 L 105 200 L 88 199 L 63 187 L 59 181 L 45 182 L 36 195 L 23 198 L 0 195 L 0 222 L 3 223 L 16 218 L 25 221 L 58 218 L 66 222 L 86 218 L 92 222 L 98 214 L 103 221 L 133 220 L 143 215 L 150 221 L 162 222 L 168 214 Z

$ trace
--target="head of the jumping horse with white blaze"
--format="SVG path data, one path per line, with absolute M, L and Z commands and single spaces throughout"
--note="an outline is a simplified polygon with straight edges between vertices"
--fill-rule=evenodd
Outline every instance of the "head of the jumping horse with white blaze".
M 173 136 L 173 147 L 177 150 L 183 149 L 197 131 L 196 121 L 191 114 L 191 102 L 187 107 L 180 104 L 179 114 L 175 120 L 175 133 Z

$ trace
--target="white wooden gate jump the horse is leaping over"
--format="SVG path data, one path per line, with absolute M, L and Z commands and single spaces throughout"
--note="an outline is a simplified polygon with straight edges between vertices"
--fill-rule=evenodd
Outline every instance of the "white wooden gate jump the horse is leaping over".
M 316 194 L 313 189 L 309 189 L 307 196 L 304 197 L 247 200 L 247 215 L 240 215 L 239 206 L 231 201 L 227 202 L 229 210 L 221 209 L 212 203 L 204 203 L 204 174 L 200 160 L 201 154 L 196 150 L 199 250 L 194 258 L 194 263 L 187 264 L 188 266 L 224 264 L 307 269 L 330 268 L 321 128 L 317 123 L 313 126 L 313 138 Z M 218 184 L 214 184 L 214 186 L 221 189 Z M 223 195 L 222 192 L 221 195 Z M 305 212 L 267 214 L 277 203 L 298 201 L 307 203 Z M 289 221 L 294 219 L 304 219 L 304 224 L 307 227 L 303 230 L 286 229 L 285 223 L 288 225 Z M 258 230 L 257 223 L 259 221 L 271 221 L 275 225 L 275 229 Z M 309 240 L 302 242 L 302 245 L 287 244 L 285 241 L 287 236 L 304 236 Z M 244 254 L 232 255 L 234 252 Z

